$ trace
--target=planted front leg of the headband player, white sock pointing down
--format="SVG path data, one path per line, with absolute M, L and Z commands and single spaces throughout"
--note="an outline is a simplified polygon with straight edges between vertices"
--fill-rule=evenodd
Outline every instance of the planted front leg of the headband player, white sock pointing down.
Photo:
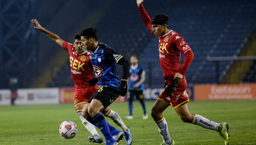
M 169 131 L 167 122 L 162 115 L 164 110 L 170 106 L 170 103 L 164 100 L 157 99 L 155 104 L 153 105 L 151 109 L 151 116 L 153 117 L 154 121 L 156 122 L 156 125 L 158 127 L 158 130 L 163 138 L 163 145 L 174 145 L 174 141 L 172 140 Z

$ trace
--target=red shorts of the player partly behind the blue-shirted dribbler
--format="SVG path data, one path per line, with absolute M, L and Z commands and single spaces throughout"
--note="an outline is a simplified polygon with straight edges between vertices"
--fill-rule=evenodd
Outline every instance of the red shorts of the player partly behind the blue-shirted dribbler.
M 92 90 L 75 90 L 74 106 L 87 103 L 91 96 L 96 92 L 96 89 Z

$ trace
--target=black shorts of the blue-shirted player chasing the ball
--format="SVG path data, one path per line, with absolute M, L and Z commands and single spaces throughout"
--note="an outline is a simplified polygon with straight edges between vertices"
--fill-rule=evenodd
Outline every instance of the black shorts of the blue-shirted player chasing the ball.
M 119 97 L 119 93 L 117 89 L 110 88 L 108 86 L 102 86 L 97 89 L 97 91 L 92 95 L 92 97 L 87 101 L 87 103 L 91 103 L 92 99 L 99 100 L 104 109 L 107 108 L 113 101 L 115 101 Z

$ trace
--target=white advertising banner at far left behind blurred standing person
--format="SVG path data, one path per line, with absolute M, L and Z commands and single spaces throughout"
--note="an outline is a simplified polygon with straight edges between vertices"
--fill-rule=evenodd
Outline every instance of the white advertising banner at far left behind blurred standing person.
M 0 105 L 10 104 L 10 94 L 9 90 L 0 90 Z M 18 89 L 17 94 L 16 105 L 59 103 L 59 88 Z

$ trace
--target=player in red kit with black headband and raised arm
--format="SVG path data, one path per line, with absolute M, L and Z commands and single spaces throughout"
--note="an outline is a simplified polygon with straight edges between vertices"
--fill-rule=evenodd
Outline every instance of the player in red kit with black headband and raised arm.
M 187 82 L 184 74 L 194 57 L 192 50 L 179 34 L 168 29 L 168 16 L 159 14 L 151 19 L 142 5 L 143 2 L 144 0 L 137 0 L 137 5 L 145 25 L 159 39 L 160 66 L 165 80 L 164 90 L 151 110 L 151 116 L 156 122 L 163 138 L 161 145 L 174 145 L 174 140 L 170 137 L 166 120 L 162 115 L 164 110 L 170 105 L 172 105 L 183 122 L 216 130 L 224 138 L 225 145 L 229 144 L 227 123 L 215 123 L 201 115 L 189 113 L 187 107 L 189 98 L 185 91 Z M 185 55 L 185 59 L 180 67 L 181 53 Z

